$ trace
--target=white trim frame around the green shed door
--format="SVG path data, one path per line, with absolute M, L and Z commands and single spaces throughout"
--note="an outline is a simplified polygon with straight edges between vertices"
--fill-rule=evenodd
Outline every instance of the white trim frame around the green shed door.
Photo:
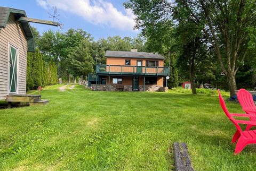
M 17 60 L 17 80 L 16 81 L 16 91 L 15 92 L 10 92 L 10 47 L 13 47 L 16 49 L 16 60 Z M 13 44 L 11 44 L 8 41 L 8 61 L 7 61 L 7 95 L 12 94 L 12 93 L 19 93 L 19 48 Z

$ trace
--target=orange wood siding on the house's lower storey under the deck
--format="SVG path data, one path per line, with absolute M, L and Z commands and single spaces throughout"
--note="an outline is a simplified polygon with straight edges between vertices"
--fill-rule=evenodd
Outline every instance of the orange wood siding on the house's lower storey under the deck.
M 107 81 L 106 84 L 108 84 L 108 76 L 106 76 Z M 132 76 L 110 76 L 110 84 L 113 84 L 113 78 L 122 78 L 122 86 L 132 86 Z M 139 86 L 143 86 L 143 81 L 144 78 L 139 76 Z M 164 86 L 164 78 L 163 77 L 158 77 L 157 78 L 157 84 L 154 84 L 153 86 Z

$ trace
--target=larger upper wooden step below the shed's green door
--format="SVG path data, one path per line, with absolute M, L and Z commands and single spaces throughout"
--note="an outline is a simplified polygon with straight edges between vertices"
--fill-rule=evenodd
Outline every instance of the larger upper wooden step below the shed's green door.
M 36 102 L 41 100 L 41 95 L 17 95 L 11 94 L 6 96 L 9 102 Z

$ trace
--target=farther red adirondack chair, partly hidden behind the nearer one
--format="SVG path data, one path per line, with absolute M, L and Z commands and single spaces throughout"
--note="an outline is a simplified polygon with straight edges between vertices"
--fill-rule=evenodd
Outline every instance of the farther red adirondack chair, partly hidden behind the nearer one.
M 256 121 L 256 106 L 254 104 L 251 93 L 245 89 L 240 89 L 237 92 L 237 99 L 246 114 L 254 114 L 255 115 L 255 117 L 250 117 L 250 121 Z M 254 125 L 247 125 L 245 130 L 248 131 L 253 126 Z

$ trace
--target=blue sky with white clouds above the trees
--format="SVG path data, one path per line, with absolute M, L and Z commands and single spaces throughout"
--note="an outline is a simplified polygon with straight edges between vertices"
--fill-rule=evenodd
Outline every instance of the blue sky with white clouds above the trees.
M 133 30 L 134 15 L 125 10 L 121 0 L 1 0 L 0 6 L 25 10 L 29 18 L 50 20 L 53 6 L 57 7 L 60 23 L 63 29 L 44 24 L 30 23 L 42 33 L 49 29 L 67 31 L 69 28 L 81 28 L 95 39 L 119 35 L 136 36 L 139 30 Z

